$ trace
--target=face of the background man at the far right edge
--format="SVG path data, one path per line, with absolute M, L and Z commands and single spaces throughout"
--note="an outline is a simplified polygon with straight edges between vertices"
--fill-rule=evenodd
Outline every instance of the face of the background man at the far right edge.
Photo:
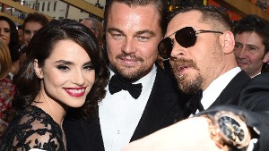
M 268 53 L 265 55 L 263 39 L 256 32 L 236 34 L 234 52 L 239 67 L 250 77 L 262 70 L 263 63 L 268 62 Z

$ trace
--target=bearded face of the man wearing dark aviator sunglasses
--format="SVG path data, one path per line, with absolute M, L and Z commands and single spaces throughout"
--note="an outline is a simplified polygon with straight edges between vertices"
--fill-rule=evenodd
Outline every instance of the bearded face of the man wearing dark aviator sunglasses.
M 169 22 L 165 36 L 169 36 L 174 42 L 170 63 L 179 88 L 186 93 L 195 93 L 200 88 L 207 88 L 224 68 L 223 53 L 218 40 L 220 33 L 199 33 L 196 35 L 195 45 L 187 48 L 180 46 L 175 40 L 174 33 L 185 27 L 213 30 L 212 25 L 199 22 L 200 18 L 201 13 L 197 11 L 178 13 Z

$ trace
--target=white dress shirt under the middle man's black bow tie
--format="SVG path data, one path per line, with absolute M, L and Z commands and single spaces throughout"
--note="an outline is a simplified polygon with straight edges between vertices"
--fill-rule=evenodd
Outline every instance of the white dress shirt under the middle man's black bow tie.
M 154 65 L 152 71 L 134 82 L 143 86 L 137 99 L 126 90 L 111 95 L 107 86 L 107 95 L 99 105 L 100 128 L 106 151 L 119 151 L 129 143 L 152 92 L 156 73 L 157 67 Z M 114 74 L 110 71 L 110 79 Z

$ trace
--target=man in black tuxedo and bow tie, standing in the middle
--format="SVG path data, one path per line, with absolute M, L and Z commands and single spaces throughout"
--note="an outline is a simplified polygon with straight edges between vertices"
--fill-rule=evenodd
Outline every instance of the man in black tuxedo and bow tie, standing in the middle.
M 65 120 L 67 150 L 118 151 L 182 119 L 184 97 L 170 74 L 155 63 L 167 27 L 167 8 L 163 0 L 108 3 L 107 95 L 91 122 Z

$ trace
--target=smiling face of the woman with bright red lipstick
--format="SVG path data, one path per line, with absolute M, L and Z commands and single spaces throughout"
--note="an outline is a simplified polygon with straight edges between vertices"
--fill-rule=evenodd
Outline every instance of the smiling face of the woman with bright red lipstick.
M 71 40 L 59 41 L 43 67 L 38 67 L 37 62 L 35 70 L 47 102 L 72 107 L 84 104 L 94 83 L 95 71 L 89 55 L 81 46 Z

